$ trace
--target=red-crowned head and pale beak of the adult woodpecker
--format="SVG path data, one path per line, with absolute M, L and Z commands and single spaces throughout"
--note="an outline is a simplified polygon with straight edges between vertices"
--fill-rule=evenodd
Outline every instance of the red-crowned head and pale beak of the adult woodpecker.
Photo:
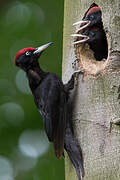
M 38 48 L 28 47 L 20 50 L 15 57 L 15 65 L 27 71 L 33 64 L 38 61 L 42 52 L 52 43 L 45 44 Z

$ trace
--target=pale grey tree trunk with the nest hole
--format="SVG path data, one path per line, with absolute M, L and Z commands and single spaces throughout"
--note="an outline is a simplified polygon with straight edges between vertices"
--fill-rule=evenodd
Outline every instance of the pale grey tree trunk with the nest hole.
M 82 19 L 92 0 L 65 0 L 63 35 L 63 81 L 70 79 L 75 60 L 73 23 Z M 84 180 L 120 179 L 120 129 L 112 121 L 120 120 L 120 1 L 97 0 L 102 10 L 109 55 L 104 71 L 79 76 L 74 96 L 75 134 L 84 156 Z M 105 62 L 105 63 L 106 63 Z M 96 73 L 97 74 L 97 73 Z M 66 180 L 77 180 L 75 170 L 65 157 Z

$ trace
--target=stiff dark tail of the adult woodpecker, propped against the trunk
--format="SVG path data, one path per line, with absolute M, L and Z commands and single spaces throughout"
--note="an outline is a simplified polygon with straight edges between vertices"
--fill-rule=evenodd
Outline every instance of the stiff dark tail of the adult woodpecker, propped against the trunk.
M 82 150 L 69 126 L 66 128 L 64 148 L 75 167 L 78 179 L 81 180 L 81 178 L 84 177 Z

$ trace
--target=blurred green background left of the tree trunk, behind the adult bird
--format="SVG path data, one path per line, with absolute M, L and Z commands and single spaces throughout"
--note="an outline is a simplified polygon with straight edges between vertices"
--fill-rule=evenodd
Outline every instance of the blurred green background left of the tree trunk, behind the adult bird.
M 63 0 L 11 0 L 0 3 L 0 167 L 3 168 L 0 179 L 62 180 L 64 163 L 62 159 L 55 158 L 52 145 L 49 151 L 37 157 L 34 167 L 27 170 L 18 168 L 19 162 L 24 164 L 25 157 L 25 154 L 22 158 L 18 157 L 19 153 L 22 154 L 19 149 L 21 134 L 26 130 L 43 130 L 44 127 L 32 95 L 23 93 L 16 85 L 19 69 L 14 65 L 14 58 L 24 47 L 38 47 L 52 41 L 54 44 L 42 54 L 39 62 L 45 71 L 61 75 Z M 12 103 L 24 111 L 22 121 Z M 11 176 L 9 168 L 6 170 L 6 166 L 1 164 L 1 159 L 10 163 Z M 3 177 L 4 169 L 8 173 L 7 178 Z

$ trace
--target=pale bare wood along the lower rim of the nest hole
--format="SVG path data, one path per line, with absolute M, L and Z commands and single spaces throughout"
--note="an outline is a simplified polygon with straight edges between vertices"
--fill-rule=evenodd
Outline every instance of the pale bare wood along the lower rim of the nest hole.
M 96 61 L 93 51 L 88 44 L 75 44 L 75 55 L 79 60 L 79 67 L 85 75 L 98 76 L 103 74 L 109 65 L 109 55 L 107 60 Z

